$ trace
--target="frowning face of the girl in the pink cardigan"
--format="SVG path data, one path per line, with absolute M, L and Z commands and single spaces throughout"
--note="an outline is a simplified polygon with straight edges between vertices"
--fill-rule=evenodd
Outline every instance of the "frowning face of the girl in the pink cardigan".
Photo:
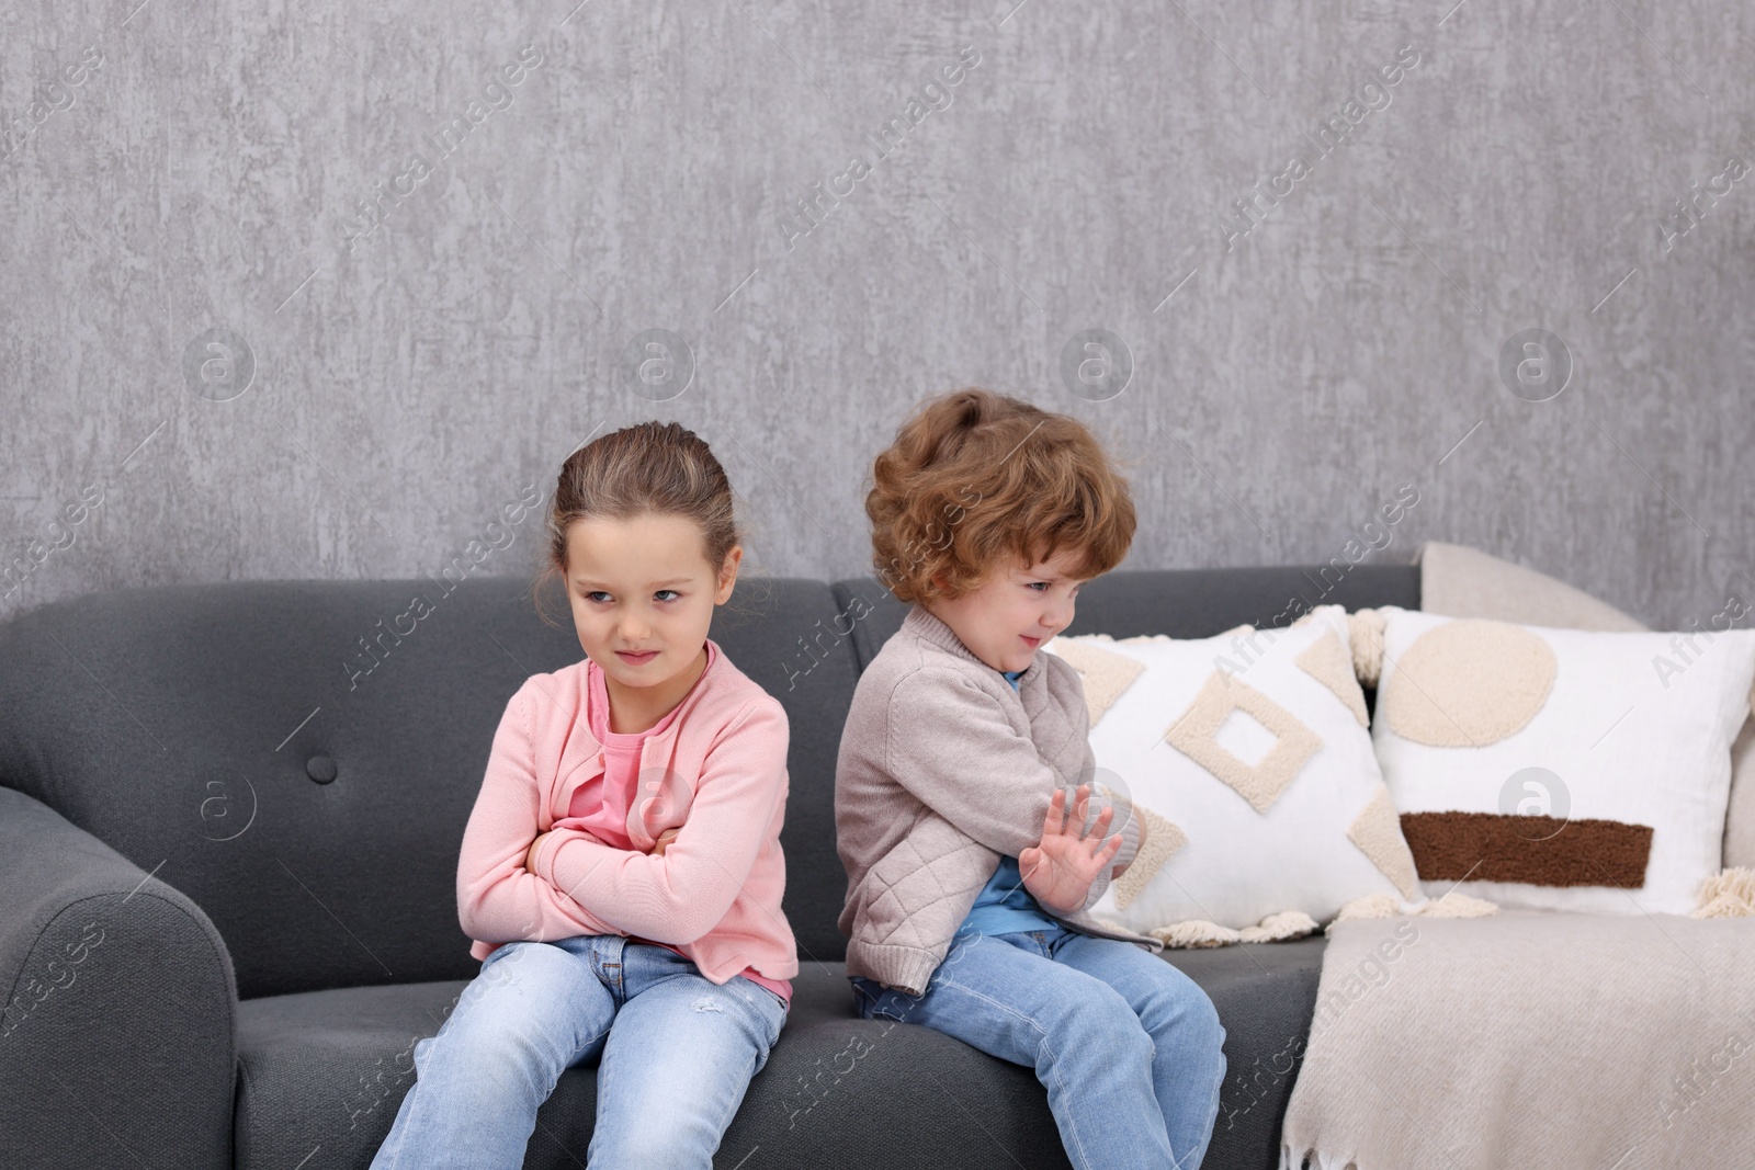
M 620 688 L 663 688 L 704 663 L 713 607 L 732 596 L 742 547 L 721 572 L 684 516 L 576 519 L 567 528 L 567 600 L 579 647 Z M 684 688 L 686 693 L 686 688 Z M 677 695 L 676 700 L 683 696 Z

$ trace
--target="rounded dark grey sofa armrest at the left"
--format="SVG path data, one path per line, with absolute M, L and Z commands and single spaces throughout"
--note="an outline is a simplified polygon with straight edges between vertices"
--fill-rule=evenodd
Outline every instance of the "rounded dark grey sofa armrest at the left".
M 0 1165 L 230 1170 L 237 982 L 219 931 L 0 788 Z

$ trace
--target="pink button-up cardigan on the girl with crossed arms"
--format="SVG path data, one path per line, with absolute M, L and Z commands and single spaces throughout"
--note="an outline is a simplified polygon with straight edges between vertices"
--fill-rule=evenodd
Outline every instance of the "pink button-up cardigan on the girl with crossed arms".
M 714 649 L 676 719 L 641 751 L 627 831 L 642 853 L 562 828 L 542 842 L 534 874 L 530 840 L 604 774 L 604 754 L 586 717 L 586 660 L 518 688 L 458 858 L 456 912 L 474 958 L 504 942 L 637 935 L 676 945 L 720 984 L 746 967 L 769 979 L 799 974 L 781 910 L 786 710 Z M 644 853 L 676 826 L 663 854 Z

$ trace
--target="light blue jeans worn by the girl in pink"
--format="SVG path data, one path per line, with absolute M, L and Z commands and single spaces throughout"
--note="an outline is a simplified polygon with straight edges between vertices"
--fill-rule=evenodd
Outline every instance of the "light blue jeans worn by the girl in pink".
M 439 1035 L 414 1045 L 372 1170 L 521 1166 L 563 1068 L 600 1061 L 591 1166 L 698 1166 L 767 1063 L 786 1003 L 621 935 L 509 942 L 481 963 Z

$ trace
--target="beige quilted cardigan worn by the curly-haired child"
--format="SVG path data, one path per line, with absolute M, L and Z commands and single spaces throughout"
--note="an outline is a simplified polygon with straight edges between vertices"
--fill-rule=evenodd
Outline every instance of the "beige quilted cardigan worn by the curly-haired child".
M 835 840 L 848 872 L 839 928 L 848 975 L 925 995 L 951 935 L 1000 856 L 1037 844 L 1057 788 L 1090 781 L 1095 756 L 1078 672 L 1035 654 L 1013 691 L 920 605 L 860 674 L 835 761 Z M 1099 874 L 1072 930 L 1153 952 L 1164 944 L 1090 917 L 1139 821 Z

